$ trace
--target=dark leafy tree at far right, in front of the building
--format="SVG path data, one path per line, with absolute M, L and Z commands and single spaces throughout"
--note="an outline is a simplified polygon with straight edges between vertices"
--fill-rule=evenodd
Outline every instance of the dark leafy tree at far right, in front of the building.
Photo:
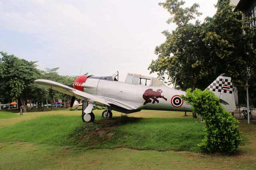
M 210 22 L 203 41 L 214 59 L 215 73 L 229 73 L 233 84 L 239 87 L 246 86 L 247 68 L 255 76 L 256 32 L 255 28 L 249 28 L 248 18 L 242 20 L 242 12 L 233 12 L 233 7 L 230 0 L 216 4 L 217 12 L 213 18 L 208 18 Z

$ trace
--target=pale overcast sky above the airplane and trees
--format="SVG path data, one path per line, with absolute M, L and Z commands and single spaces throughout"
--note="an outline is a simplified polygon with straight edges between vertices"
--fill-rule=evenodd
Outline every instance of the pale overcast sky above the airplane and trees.
M 197 2 L 203 15 L 213 16 L 218 0 Z M 60 67 L 60 75 L 88 72 L 107 76 L 119 71 L 150 75 L 154 49 L 165 41 L 167 10 L 164 0 L 0 0 L 0 51 L 38 68 Z M 156 74 L 151 76 L 156 77 Z

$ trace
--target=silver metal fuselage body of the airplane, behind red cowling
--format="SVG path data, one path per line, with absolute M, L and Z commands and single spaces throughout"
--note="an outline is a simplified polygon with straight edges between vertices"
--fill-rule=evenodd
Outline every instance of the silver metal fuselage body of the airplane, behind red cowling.
M 127 105 L 132 109 L 191 111 L 192 107 L 183 101 L 182 105 L 175 107 L 171 103 L 171 99 L 176 95 L 185 95 L 186 92 L 169 88 L 166 85 L 152 87 L 88 77 L 82 86 L 84 87 L 83 90 L 86 93 L 118 101 L 119 103 Z M 153 103 L 153 99 L 150 99 L 152 102 L 144 105 L 145 99 L 143 98 L 143 95 L 148 89 L 152 89 L 154 92 L 160 89 L 162 91 L 160 94 L 164 96 L 166 100 L 159 97 L 157 98 L 159 103 Z

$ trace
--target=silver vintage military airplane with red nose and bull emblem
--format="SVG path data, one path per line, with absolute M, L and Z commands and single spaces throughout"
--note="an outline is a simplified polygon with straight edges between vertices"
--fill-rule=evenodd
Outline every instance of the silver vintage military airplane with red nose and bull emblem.
M 128 73 L 125 82 L 118 81 L 118 72 L 107 77 L 81 75 L 75 80 L 74 88 L 44 79 L 38 79 L 35 83 L 73 96 L 71 107 L 75 98 L 90 102 L 82 114 L 84 122 L 94 121 L 94 105 L 107 107 L 102 113 L 102 117 L 107 118 L 112 117 L 112 110 L 129 114 L 142 109 L 191 111 L 192 107 L 180 97 L 186 94 L 185 91 L 172 89 L 154 77 L 140 74 Z M 227 111 L 234 112 L 236 105 L 229 76 L 220 75 L 207 89 L 220 98 Z

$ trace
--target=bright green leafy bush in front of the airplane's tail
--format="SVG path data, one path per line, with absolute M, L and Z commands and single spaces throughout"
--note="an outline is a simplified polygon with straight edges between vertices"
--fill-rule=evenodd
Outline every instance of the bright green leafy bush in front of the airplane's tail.
M 188 89 L 186 96 L 181 97 L 206 123 L 206 136 L 198 144 L 200 148 L 208 152 L 234 152 L 238 148 L 242 133 L 238 130 L 239 122 L 221 107 L 220 99 L 214 93 Z

